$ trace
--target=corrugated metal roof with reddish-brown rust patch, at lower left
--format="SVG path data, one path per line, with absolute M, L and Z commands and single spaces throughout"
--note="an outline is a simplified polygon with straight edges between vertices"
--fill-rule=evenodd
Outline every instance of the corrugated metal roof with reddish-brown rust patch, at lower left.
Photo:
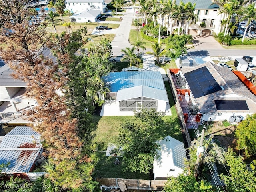
M 41 142 L 40 134 L 30 127 L 11 130 L 0 144 L 0 162 L 10 162 L 10 166 L 2 172 L 29 172 L 42 148 Z

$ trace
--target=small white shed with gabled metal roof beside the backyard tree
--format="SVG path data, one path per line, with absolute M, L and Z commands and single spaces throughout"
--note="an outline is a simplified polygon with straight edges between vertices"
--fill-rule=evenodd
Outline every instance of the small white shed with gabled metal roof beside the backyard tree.
M 171 136 L 166 136 L 156 143 L 160 144 L 160 150 L 159 157 L 155 158 L 153 163 L 154 179 L 164 180 L 183 173 L 186 160 L 184 144 Z

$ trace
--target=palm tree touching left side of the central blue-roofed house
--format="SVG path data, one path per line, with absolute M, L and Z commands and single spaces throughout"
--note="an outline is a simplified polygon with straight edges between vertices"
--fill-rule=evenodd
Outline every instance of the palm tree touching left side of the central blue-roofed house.
M 93 105 L 98 103 L 101 106 L 104 103 L 107 92 L 110 92 L 110 89 L 99 76 L 94 75 L 92 78 L 88 78 L 86 94 L 92 98 Z

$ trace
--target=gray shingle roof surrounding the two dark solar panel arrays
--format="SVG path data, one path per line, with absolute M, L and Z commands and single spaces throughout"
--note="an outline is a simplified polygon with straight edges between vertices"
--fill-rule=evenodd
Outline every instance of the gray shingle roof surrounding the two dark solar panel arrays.
M 223 87 L 223 90 L 196 98 L 195 102 L 200 112 L 230 112 L 228 110 L 217 111 L 214 102 L 215 100 L 245 100 L 249 110 L 239 110 L 237 112 L 256 112 L 256 96 L 252 94 L 250 90 L 248 90 L 246 86 L 238 79 L 238 77 L 228 68 L 222 68 L 216 64 L 212 64 L 211 62 L 206 62 L 196 67 L 182 67 L 181 71 L 184 74 L 205 66 L 208 68 L 216 82 Z

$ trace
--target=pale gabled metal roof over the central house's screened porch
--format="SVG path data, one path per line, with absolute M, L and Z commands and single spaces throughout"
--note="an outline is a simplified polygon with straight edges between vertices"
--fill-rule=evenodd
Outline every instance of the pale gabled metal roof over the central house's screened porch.
M 142 85 L 119 90 L 116 94 L 116 101 L 123 101 L 142 96 L 156 100 L 164 100 L 166 102 L 169 101 L 166 90 L 161 90 Z

